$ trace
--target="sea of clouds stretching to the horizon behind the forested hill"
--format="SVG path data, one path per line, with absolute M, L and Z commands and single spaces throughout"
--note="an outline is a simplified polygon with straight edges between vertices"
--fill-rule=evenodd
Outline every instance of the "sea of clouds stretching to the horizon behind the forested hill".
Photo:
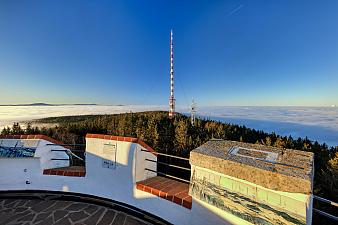
M 13 122 L 45 117 L 166 110 L 167 106 L 0 106 L 0 129 Z M 185 108 L 179 112 L 188 113 Z M 199 117 L 338 145 L 338 107 L 199 107 Z

